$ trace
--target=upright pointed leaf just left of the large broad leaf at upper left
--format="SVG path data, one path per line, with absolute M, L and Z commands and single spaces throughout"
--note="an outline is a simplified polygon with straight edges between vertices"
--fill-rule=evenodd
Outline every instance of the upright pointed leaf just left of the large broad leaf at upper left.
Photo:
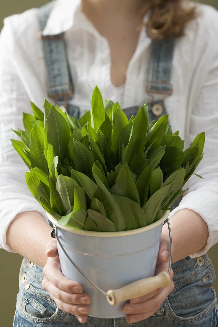
M 43 132 L 36 125 L 30 132 L 30 161 L 31 167 L 38 167 L 47 175 L 49 174 L 48 164 L 44 156 Z

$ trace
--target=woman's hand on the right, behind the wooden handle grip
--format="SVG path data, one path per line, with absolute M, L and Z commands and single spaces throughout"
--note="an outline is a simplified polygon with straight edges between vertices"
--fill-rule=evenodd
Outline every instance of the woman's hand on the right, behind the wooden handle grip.
M 174 248 L 174 247 L 173 247 Z M 158 262 L 155 275 L 161 271 L 168 271 L 169 266 L 169 238 L 165 235 L 160 237 L 160 247 L 158 253 Z M 132 299 L 123 306 L 123 312 L 127 314 L 127 322 L 137 322 L 152 316 L 166 300 L 167 296 L 173 291 L 173 270 L 170 272 L 171 284 L 169 287 L 158 288 L 141 298 Z

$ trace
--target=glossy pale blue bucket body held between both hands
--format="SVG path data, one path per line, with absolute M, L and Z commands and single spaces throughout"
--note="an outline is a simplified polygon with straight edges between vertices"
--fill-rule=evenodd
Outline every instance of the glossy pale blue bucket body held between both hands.
M 117 289 L 136 280 L 154 276 L 159 239 L 168 214 L 166 212 L 151 225 L 124 232 L 75 231 L 69 227 L 60 227 L 49 214 L 48 218 L 58 227 L 60 242 L 73 262 L 92 282 L 107 292 L 109 289 Z M 91 297 L 89 316 L 126 316 L 122 312 L 122 306 L 127 301 L 111 306 L 106 296 L 72 265 L 59 244 L 58 252 L 63 275 L 80 283 L 84 292 Z

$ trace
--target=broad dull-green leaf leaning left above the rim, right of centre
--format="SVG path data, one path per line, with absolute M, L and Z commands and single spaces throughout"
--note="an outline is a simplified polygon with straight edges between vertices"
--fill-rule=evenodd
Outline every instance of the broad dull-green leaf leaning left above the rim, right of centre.
M 117 194 L 113 194 L 113 197 L 125 217 L 127 230 L 146 226 L 146 216 L 138 203 Z

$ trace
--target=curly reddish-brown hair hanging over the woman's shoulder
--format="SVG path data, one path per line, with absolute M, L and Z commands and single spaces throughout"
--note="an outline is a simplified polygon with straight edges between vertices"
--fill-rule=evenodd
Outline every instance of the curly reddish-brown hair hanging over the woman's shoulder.
M 189 0 L 148 0 L 143 11 L 149 12 L 145 23 L 148 36 L 153 40 L 180 37 L 184 27 L 199 16 L 196 6 Z

